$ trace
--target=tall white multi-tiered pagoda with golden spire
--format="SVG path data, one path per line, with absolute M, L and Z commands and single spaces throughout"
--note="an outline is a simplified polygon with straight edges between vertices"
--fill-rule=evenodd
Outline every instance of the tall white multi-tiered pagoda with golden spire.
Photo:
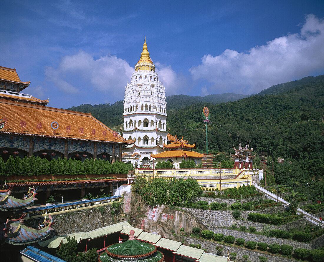
M 145 38 L 131 83 L 125 87 L 122 133 L 125 140 L 135 143 L 123 148 L 123 162 L 147 167 L 151 154 L 163 152 L 163 144 L 168 143 L 166 104 L 165 88 L 155 72 Z

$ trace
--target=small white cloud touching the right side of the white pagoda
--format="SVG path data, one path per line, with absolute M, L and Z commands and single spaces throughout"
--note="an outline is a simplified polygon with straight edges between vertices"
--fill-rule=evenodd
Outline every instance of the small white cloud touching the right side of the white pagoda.
M 187 80 L 183 75 L 177 74 L 171 66 L 166 66 L 159 62 L 155 65 L 159 80 L 166 89 L 166 96 L 180 94 L 184 91 Z

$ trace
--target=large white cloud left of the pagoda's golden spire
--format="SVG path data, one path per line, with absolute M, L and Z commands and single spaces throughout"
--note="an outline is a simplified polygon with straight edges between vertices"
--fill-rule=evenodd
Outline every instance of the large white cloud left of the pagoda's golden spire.
M 133 71 L 125 60 L 116 56 L 94 59 L 81 50 L 76 55 L 65 56 L 58 68 L 46 68 L 45 75 L 65 93 L 100 91 L 109 93 L 111 101 L 115 101 L 122 99 Z

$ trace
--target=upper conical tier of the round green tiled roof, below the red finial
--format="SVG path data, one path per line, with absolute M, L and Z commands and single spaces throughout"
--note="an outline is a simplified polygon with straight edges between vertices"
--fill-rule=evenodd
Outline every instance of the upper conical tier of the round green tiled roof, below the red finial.
M 148 243 L 142 243 L 136 239 L 127 240 L 123 243 L 117 243 L 107 247 L 108 253 L 124 257 L 146 256 L 146 254 L 152 253 L 155 250 L 155 246 Z

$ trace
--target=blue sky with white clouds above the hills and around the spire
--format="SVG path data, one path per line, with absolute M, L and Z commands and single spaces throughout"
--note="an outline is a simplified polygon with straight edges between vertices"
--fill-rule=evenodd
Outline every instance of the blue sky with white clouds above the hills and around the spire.
M 324 74 L 323 1 L 4 1 L 0 65 L 49 106 L 123 100 L 142 51 L 166 95 Z

